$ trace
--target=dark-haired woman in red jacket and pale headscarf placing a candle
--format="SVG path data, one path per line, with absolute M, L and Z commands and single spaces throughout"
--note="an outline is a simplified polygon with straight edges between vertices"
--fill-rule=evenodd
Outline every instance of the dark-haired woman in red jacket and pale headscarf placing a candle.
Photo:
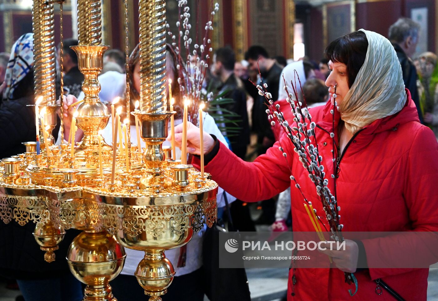
M 391 43 L 375 32 L 361 29 L 333 41 L 326 56 L 332 72 L 325 83 L 332 101 L 337 87 L 334 131 L 330 101 L 309 111 L 316 123 L 315 135 L 325 172 L 334 175 L 334 179 L 329 178 L 330 190 L 336 181 L 343 231 L 438 231 L 438 144 L 433 132 L 419 123 Z M 181 130 L 181 126 L 175 129 L 177 143 L 181 142 Z M 332 131 L 336 146 L 339 145 L 336 168 L 332 163 Z M 187 129 L 187 140 L 188 151 L 199 154 L 198 128 L 192 124 Z M 291 185 L 290 170 L 278 149 L 279 143 L 304 195 L 321 212 L 315 186 L 287 135 L 249 163 L 204 133 L 208 162 L 205 170 L 244 202 L 268 199 Z M 199 166 L 196 156 L 193 164 Z M 314 231 L 294 183 L 291 200 L 294 231 Z M 346 250 L 326 251 L 333 257 L 332 269 L 297 269 L 294 285 L 293 269 L 290 270 L 288 300 L 403 300 L 386 290 L 376 294 L 378 279 L 404 300 L 426 300 L 428 269 L 375 268 L 379 260 L 391 260 L 386 251 L 394 248 L 424 251 L 421 254 L 430 257 L 430 264 L 438 260 L 436 249 L 427 253 L 427 248 L 422 247 L 402 244 L 397 239 L 346 240 Z M 382 253 L 376 253 L 379 248 Z M 366 258 L 369 268 L 357 270 L 359 258 Z M 354 273 L 357 278 L 359 289 L 353 297 L 345 287 L 343 272 Z

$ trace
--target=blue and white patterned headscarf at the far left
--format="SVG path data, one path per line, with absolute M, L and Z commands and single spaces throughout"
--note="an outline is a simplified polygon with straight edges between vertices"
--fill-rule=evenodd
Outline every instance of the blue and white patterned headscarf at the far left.
M 12 46 L 4 78 L 6 88 L 3 92 L 3 100 L 13 99 L 15 87 L 32 70 L 33 33 L 26 33 Z

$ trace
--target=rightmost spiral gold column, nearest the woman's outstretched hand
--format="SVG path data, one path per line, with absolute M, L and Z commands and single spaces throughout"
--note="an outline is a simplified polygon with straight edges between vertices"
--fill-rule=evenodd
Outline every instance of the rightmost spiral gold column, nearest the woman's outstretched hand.
M 166 111 L 166 1 L 139 0 L 140 110 Z

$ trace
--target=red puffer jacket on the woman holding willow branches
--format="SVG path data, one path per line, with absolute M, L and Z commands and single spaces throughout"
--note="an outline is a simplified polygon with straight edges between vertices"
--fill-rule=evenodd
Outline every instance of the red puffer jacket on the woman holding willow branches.
M 337 179 L 337 201 L 344 231 L 438 231 L 438 143 L 432 131 L 418 122 L 415 104 L 408 90 L 406 93 L 408 101 L 399 113 L 364 127 L 344 150 Z M 312 120 L 318 125 L 316 136 L 327 175 L 333 174 L 330 109 L 329 102 L 326 106 L 310 109 Z M 335 127 L 339 116 L 336 119 Z M 280 142 L 304 195 L 318 212 L 322 212 L 314 185 L 298 162 L 289 138 L 283 135 Z M 219 186 L 244 202 L 268 199 L 291 185 L 290 171 L 278 147 L 279 142 L 249 163 L 220 145 L 218 154 L 205 170 Z M 193 163 L 199 166 L 198 159 Z M 329 178 L 329 188 L 333 190 L 331 180 Z M 291 200 L 293 230 L 314 231 L 303 206 L 303 197 L 294 184 Z M 373 241 L 363 243 L 367 251 Z M 385 248 L 385 241 L 379 243 Z M 394 243 L 397 244 L 392 241 L 392 248 Z M 368 265 L 372 266 L 368 254 L 367 259 Z M 289 301 L 394 301 L 385 290 L 380 296 L 375 293 L 374 280 L 377 278 L 405 300 L 422 301 L 427 296 L 428 269 L 365 269 L 355 273 L 359 288 L 353 297 L 347 291 L 354 291 L 353 285 L 348 286 L 343 272 L 336 268 L 297 269 L 295 297 L 290 295 L 292 270 L 289 276 Z

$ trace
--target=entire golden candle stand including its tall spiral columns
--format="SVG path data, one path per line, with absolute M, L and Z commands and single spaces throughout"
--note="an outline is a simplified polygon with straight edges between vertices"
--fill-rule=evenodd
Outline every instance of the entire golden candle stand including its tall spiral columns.
M 52 135 L 60 107 L 54 105 L 53 2 L 34 0 L 35 96 L 42 96 L 38 107 L 39 111 L 45 108 L 48 137 L 39 139 L 39 154 L 36 142 L 23 142 L 25 153 L 1 160 L 0 219 L 35 223 L 33 234 L 47 262 L 55 260 L 65 229 L 82 230 L 66 257 L 73 275 L 86 284 L 84 301 L 117 300 L 109 281 L 123 269 L 124 247 L 144 251 L 135 276 L 149 300 L 159 301 L 175 274 L 164 251 L 187 244 L 193 231 L 205 224 L 212 226 L 218 186 L 208 174 L 201 177 L 162 148 L 169 118 L 175 113 L 166 111 L 165 0 L 139 1 L 141 112 L 133 114 L 140 121 L 146 148 L 143 152 L 130 145 L 128 156 L 117 149 L 113 168 L 113 148 L 99 137 L 109 121 L 108 109 L 98 97 L 98 74 L 108 49 L 101 45 L 100 7 L 100 0 L 78 0 L 79 45 L 72 48 L 84 74 L 85 98 L 76 117 L 84 138 L 72 154 L 71 145 L 54 145 Z M 129 133 L 129 123 L 127 128 Z

